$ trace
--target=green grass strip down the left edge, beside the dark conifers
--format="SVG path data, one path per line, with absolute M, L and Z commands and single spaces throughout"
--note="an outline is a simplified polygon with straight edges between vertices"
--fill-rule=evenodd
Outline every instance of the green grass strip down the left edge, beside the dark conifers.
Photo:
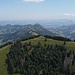
M 0 49 L 0 75 L 8 75 L 5 60 L 6 60 L 6 54 L 9 51 L 9 49 L 10 45 Z

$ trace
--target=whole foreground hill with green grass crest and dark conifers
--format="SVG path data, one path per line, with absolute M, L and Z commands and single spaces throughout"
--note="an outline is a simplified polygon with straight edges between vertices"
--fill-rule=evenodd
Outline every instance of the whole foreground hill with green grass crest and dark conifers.
M 71 41 L 43 36 L 17 40 L 0 49 L 0 74 L 74 75 L 74 52 L 75 43 Z

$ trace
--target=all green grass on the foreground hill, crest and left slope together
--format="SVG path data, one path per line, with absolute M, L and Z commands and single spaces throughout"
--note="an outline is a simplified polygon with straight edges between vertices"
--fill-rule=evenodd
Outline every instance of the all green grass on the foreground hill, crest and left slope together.
M 25 42 L 29 42 L 29 41 L 31 41 L 33 45 L 36 45 L 38 42 L 41 42 L 42 45 L 44 45 L 44 43 L 59 44 L 59 45 L 64 43 L 63 41 L 57 41 L 57 40 L 53 40 L 53 39 L 47 39 L 46 42 L 44 40 L 45 40 L 45 38 L 41 36 L 39 38 L 23 41 L 22 43 L 24 44 Z M 66 42 L 66 47 L 67 47 L 67 51 L 70 49 L 75 50 L 75 43 L 74 42 Z M 5 60 L 6 60 L 6 54 L 9 51 L 9 49 L 10 49 L 10 45 L 0 49 L 0 75 L 8 75 L 7 68 L 5 66 Z M 19 75 L 19 74 L 17 74 L 17 75 Z

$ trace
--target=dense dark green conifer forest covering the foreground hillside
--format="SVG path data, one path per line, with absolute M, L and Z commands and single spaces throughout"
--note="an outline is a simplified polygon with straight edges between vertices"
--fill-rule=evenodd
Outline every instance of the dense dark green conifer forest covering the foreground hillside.
M 22 75 L 74 75 L 69 70 L 72 64 L 64 64 L 66 57 L 69 58 L 72 52 L 66 52 L 64 45 L 44 45 L 40 42 L 33 46 L 31 42 L 21 44 L 17 40 L 12 44 L 7 54 L 6 63 L 9 74 L 20 73 Z M 73 53 L 73 57 L 74 57 Z M 66 65 L 66 67 L 64 67 Z

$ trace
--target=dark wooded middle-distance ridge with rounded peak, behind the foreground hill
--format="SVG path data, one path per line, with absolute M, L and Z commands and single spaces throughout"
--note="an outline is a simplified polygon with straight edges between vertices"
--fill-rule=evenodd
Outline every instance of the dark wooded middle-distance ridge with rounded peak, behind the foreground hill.
M 0 44 L 36 35 L 57 35 L 39 24 L 0 26 Z

